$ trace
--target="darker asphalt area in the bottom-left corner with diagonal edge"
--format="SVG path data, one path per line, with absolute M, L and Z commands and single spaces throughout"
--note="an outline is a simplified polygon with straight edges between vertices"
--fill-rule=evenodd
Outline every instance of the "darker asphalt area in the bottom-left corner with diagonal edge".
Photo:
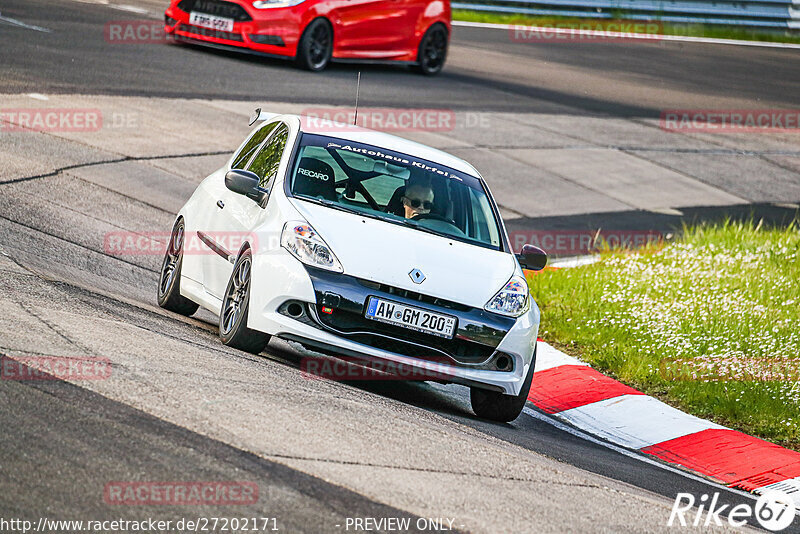
M 21 367 L 23 375 L 33 373 Z M 0 381 L 0 396 L 14 406 L 0 411 L 0 488 L 15 495 L 0 503 L 4 515 L 32 521 L 52 513 L 93 520 L 226 517 L 231 508 L 219 504 L 118 506 L 104 498 L 104 484 L 245 481 L 260 491 L 236 515 L 276 517 L 282 531 L 333 532 L 348 517 L 408 518 L 417 531 L 414 514 L 51 378 Z

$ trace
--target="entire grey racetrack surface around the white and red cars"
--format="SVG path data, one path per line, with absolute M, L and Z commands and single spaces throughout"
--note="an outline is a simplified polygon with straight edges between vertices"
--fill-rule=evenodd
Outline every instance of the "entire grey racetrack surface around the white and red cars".
M 363 106 L 453 110 L 456 128 L 408 136 L 476 161 L 511 228 L 662 229 L 734 212 L 777 223 L 800 202 L 796 134 L 684 136 L 657 123 L 664 109 L 797 109 L 798 51 L 522 44 L 457 27 L 438 77 L 352 65 L 310 74 L 193 46 L 110 44 L 106 23 L 158 18 L 161 3 L 127 0 L 146 13 L 106 4 L 0 5 L 0 110 L 132 118 L 100 132 L 0 131 L 0 352 L 113 363 L 109 380 L 0 381 L 0 517 L 257 516 L 285 532 L 444 518 L 475 532 L 659 532 L 679 492 L 752 502 L 544 416 L 478 420 L 466 388 L 313 380 L 299 369 L 307 353 L 285 342 L 258 357 L 229 349 L 210 314 L 157 307 L 159 256 L 114 255 L 104 236 L 168 231 L 246 134 L 250 109 L 350 105 L 358 71 Z M 491 127 L 467 124 L 472 114 Z M 570 167 L 572 156 L 581 161 Z M 627 166 L 615 166 L 621 158 Z M 626 184 L 632 168 L 649 181 Z M 581 181 L 606 169 L 613 179 L 599 186 Z M 132 480 L 252 481 L 259 499 L 104 501 L 106 484 Z

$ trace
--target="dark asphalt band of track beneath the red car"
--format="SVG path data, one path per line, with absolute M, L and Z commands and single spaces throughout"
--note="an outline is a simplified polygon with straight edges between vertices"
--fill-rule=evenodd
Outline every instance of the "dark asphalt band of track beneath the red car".
M 365 106 L 564 111 L 658 117 L 669 108 L 792 109 L 800 95 L 796 50 L 635 41 L 520 43 L 506 31 L 457 27 L 448 68 L 434 79 L 405 67 L 340 65 L 324 76 L 289 62 L 204 48 L 110 45 L 103 27 L 143 15 L 105 1 L 6 0 L 4 93 L 55 92 L 351 104 L 363 71 Z M 113 2 L 112 2 L 113 3 Z M 162 1 L 142 5 L 160 19 Z M 135 66 L 135 68 L 132 68 Z

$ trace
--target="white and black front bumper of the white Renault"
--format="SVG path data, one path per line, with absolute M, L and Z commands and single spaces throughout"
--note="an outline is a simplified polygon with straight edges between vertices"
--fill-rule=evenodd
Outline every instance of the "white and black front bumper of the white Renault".
M 288 254 L 270 256 L 268 283 L 257 283 L 258 260 L 254 265 L 257 296 L 251 302 L 250 328 L 326 352 L 389 361 L 447 382 L 509 395 L 519 393 L 534 364 L 539 327 L 534 303 L 521 317 L 508 318 L 306 267 Z M 453 315 L 458 321 L 455 336 L 445 340 L 364 319 L 370 296 Z M 333 313 L 321 313 L 322 306 Z M 507 365 L 501 365 L 503 358 L 509 360 Z

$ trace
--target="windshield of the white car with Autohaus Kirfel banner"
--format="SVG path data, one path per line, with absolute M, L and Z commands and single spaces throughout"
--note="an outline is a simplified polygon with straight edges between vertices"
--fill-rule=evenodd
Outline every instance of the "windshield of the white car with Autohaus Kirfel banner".
M 481 181 L 408 154 L 303 134 L 289 187 L 295 197 L 332 208 L 501 249 Z

